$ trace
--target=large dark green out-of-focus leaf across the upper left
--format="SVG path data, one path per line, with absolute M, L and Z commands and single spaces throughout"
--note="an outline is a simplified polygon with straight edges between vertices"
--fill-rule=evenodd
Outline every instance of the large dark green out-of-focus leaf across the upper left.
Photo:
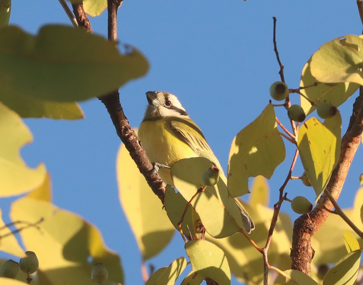
M 73 102 L 101 96 L 143 76 L 137 50 L 121 55 L 114 42 L 83 29 L 48 25 L 31 36 L 18 27 L 0 30 L 0 94 Z

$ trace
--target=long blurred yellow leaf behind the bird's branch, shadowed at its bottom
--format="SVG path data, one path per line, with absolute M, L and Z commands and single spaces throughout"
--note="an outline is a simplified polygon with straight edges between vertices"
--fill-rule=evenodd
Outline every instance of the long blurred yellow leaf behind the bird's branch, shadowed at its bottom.
M 163 204 L 151 191 L 124 144 L 116 162 L 119 199 L 143 260 L 162 251 L 174 235 Z

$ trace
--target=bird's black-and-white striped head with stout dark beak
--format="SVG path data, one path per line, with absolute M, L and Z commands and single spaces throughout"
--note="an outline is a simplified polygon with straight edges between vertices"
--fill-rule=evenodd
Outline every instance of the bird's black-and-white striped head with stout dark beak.
M 147 91 L 146 98 L 149 104 L 146 107 L 144 120 L 164 117 L 189 117 L 175 95 L 164 91 Z

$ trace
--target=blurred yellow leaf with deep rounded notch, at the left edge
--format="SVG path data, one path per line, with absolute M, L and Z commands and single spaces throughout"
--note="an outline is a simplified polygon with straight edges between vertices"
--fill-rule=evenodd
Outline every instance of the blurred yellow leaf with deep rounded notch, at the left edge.
M 0 197 L 24 193 L 44 180 L 46 170 L 26 166 L 20 148 L 33 141 L 28 127 L 19 115 L 0 103 Z

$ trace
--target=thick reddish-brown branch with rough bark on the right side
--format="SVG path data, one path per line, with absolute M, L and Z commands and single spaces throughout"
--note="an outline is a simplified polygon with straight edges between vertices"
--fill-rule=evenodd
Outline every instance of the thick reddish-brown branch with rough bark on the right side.
M 337 200 L 342 191 L 344 181 L 347 177 L 352 159 L 360 144 L 360 135 L 363 130 L 363 88 L 359 89 L 359 96 L 353 105 L 353 112 L 350 117 L 348 129 L 342 138 L 342 146 L 340 149 L 340 158 L 338 165 L 335 167 L 329 183 L 326 187 L 334 200 Z M 309 213 L 302 215 L 294 223 L 293 242 L 291 248 L 291 268 L 310 275 L 310 263 L 314 257 L 314 249 L 311 247 L 311 236 L 326 221 L 332 209 L 333 204 L 330 202 L 326 194 L 320 198 L 321 203 Z

